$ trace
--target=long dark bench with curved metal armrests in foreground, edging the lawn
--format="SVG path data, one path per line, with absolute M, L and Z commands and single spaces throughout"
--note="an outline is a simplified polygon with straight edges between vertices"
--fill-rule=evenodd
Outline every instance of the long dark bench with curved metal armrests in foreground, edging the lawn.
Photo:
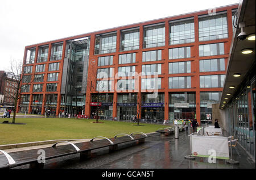
M 138 135 L 137 133 L 141 135 Z M 143 132 L 133 132 L 130 135 L 126 133 L 119 133 L 118 135 L 115 135 L 111 139 L 108 139 L 103 136 L 97 136 L 91 139 L 90 141 L 82 143 L 59 141 L 47 148 L 30 149 L 20 152 L 6 153 L 5 151 L 0 150 L 0 152 L 2 152 L 0 153 L 0 169 L 13 168 L 14 166 L 20 166 L 25 164 L 30 164 L 30 168 L 43 168 L 45 161 L 38 161 L 38 159 L 42 158 L 42 156 L 44 156 L 44 160 L 48 160 L 51 158 L 80 153 L 80 160 L 84 160 L 86 158 L 91 157 L 91 150 L 109 147 L 109 152 L 111 152 L 112 150 L 117 150 L 118 145 L 122 143 L 130 143 L 134 141 L 138 141 L 138 143 L 135 143 L 136 145 L 139 143 L 144 143 L 144 139 L 146 139 L 146 137 L 148 136 Z M 94 141 L 95 139 L 102 140 Z M 106 143 L 106 140 L 108 143 Z M 68 144 L 56 146 L 59 143 Z M 42 154 L 42 152 L 44 153 Z

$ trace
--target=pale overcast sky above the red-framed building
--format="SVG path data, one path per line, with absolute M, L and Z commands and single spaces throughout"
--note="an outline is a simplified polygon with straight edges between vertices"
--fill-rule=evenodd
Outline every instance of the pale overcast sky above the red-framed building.
M 0 70 L 22 60 L 26 45 L 105 30 L 240 0 L 0 0 Z

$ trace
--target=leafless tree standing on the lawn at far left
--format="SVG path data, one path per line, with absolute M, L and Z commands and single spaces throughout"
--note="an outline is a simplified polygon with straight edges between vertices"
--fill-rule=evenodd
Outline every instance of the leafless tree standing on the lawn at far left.
M 11 97 L 11 99 L 13 99 L 14 102 L 12 123 L 15 123 L 18 101 L 21 98 L 20 93 L 22 93 L 22 89 L 24 89 L 24 87 L 27 87 L 28 84 L 32 82 L 33 76 L 22 75 L 22 61 L 11 60 L 10 64 L 10 72 L 14 74 L 13 78 L 11 79 L 11 81 L 14 83 L 10 83 L 10 86 L 12 89 L 14 89 L 14 93 L 6 90 L 5 92 L 9 95 L 9 97 Z

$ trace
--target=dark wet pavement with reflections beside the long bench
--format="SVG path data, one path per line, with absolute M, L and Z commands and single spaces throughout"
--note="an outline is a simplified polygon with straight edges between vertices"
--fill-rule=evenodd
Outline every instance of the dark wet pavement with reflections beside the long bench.
M 208 163 L 208 158 L 196 157 L 195 160 L 185 159 L 189 154 L 189 132 L 180 132 L 179 139 L 174 135 L 160 136 L 154 133 L 147 137 L 145 143 L 125 143 L 118 146 L 118 150 L 109 153 L 109 148 L 92 151 L 92 158 L 80 161 L 79 154 L 47 160 L 47 169 L 252 169 L 255 162 L 239 145 L 241 157 L 233 150 L 233 160 L 240 164 L 228 164 L 226 160 L 216 160 Z M 255 160 L 255 159 L 254 159 Z M 16 168 L 29 168 L 28 165 Z

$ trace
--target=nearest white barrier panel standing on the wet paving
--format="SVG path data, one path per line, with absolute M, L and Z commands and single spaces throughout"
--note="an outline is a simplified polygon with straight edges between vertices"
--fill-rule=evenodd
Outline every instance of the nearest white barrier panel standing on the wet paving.
M 191 152 L 195 157 L 209 157 L 216 152 L 216 158 L 229 160 L 228 137 L 191 136 Z

